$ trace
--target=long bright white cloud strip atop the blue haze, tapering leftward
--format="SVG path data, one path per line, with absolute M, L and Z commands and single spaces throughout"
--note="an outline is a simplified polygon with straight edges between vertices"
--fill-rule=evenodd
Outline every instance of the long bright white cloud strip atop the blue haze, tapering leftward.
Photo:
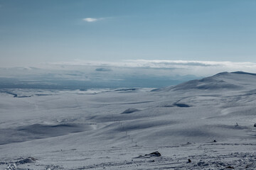
M 82 61 L 56 62 L 51 63 L 66 67 L 110 67 L 123 68 L 126 70 L 140 69 L 141 72 L 151 73 L 161 72 L 163 74 L 186 75 L 193 74 L 200 77 L 207 77 L 219 72 L 254 72 L 256 73 L 256 63 L 254 62 L 216 62 L 216 61 L 186 61 L 186 60 L 124 60 L 122 62 L 99 62 Z M 136 69 L 136 70 L 137 70 Z

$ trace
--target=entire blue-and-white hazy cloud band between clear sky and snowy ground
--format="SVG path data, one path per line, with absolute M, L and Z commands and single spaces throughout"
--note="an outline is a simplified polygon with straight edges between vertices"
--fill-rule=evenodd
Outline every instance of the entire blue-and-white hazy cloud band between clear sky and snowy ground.
M 220 72 L 256 73 L 253 62 L 125 60 L 55 62 L 41 67 L 0 68 L 1 88 L 90 89 L 162 87 Z M 2 83 L 1 83 L 2 82 Z

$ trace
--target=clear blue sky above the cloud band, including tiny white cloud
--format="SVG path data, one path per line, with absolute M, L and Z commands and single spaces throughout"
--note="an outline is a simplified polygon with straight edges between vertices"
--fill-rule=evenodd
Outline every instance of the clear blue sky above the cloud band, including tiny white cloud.
M 0 0 L 0 67 L 256 62 L 256 1 Z

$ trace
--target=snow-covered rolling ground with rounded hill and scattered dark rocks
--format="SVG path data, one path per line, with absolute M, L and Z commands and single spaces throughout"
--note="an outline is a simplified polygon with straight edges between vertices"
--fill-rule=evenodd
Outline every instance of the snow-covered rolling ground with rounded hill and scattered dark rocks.
M 255 85 L 224 72 L 162 89 L 2 89 L 0 169 L 256 169 Z

